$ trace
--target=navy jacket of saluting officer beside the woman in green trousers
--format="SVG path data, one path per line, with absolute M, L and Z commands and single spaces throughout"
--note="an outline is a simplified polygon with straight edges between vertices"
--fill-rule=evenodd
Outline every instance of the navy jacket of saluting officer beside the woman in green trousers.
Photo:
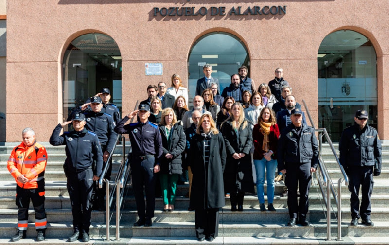
M 150 123 L 130 123 L 124 125 L 129 120 L 125 116 L 115 127 L 118 134 L 128 134 L 131 141 L 133 156 L 154 155 L 156 164 L 160 164 L 163 153 L 162 139 L 157 124 Z

